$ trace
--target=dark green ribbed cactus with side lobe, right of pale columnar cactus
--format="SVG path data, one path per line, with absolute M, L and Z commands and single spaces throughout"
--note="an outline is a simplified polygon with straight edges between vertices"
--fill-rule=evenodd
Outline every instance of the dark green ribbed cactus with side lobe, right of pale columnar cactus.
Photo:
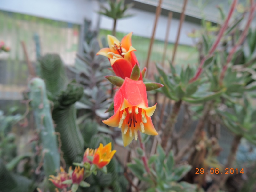
M 57 54 L 46 54 L 39 59 L 41 77 L 44 79 L 48 98 L 54 103 L 52 118 L 55 131 L 60 133 L 61 150 L 68 165 L 84 153 L 84 140 L 76 125 L 74 103 L 82 94 L 82 86 L 68 82 L 64 65 Z

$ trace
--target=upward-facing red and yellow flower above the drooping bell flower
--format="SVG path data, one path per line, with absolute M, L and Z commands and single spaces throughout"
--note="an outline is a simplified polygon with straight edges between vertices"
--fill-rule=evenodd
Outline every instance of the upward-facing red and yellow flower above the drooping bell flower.
M 103 48 L 96 54 L 108 57 L 116 76 L 123 79 L 125 77 L 130 77 L 132 68 L 138 63 L 133 52 L 136 51 L 136 49 L 132 47 L 131 37 L 132 32 L 124 36 L 120 42 L 116 37 L 108 35 L 109 48 Z M 140 75 L 139 80 L 142 80 L 142 75 Z

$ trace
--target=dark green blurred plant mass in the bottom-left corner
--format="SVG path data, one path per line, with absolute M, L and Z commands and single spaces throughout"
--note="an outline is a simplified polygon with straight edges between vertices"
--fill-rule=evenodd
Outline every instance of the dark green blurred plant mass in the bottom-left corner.
M 1 192 L 32 192 L 35 190 L 33 182 L 23 176 L 9 172 L 0 159 L 0 191 Z

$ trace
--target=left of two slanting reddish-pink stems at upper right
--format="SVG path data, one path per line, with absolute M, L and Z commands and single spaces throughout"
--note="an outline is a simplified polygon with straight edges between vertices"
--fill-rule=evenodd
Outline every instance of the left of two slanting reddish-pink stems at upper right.
M 196 79 L 198 79 L 198 77 L 201 75 L 202 71 L 203 71 L 203 65 L 204 65 L 204 61 L 206 60 L 207 57 L 209 57 L 210 55 L 212 55 L 212 53 L 216 50 L 218 44 L 220 43 L 220 39 L 223 36 L 224 32 L 226 31 L 226 28 L 228 27 L 228 22 L 231 19 L 231 16 L 235 10 L 236 7 L 236 3 L 237 0 L 234 0 L 233 3 L 231 4 L 230 10 L 228 12 L 228 17 L 226 18 L 225 22 L 223 23 L 220 32 L 214 42 L 214 44 L 212 45 L 211 49 L 209 50 L 208 54 L 206 56 L 204 56 L 204 58 L 201 60 L 200 65 L 197 69 L 196 75 L 189 81 L 190 83 L 193 81 L 196 81 Z

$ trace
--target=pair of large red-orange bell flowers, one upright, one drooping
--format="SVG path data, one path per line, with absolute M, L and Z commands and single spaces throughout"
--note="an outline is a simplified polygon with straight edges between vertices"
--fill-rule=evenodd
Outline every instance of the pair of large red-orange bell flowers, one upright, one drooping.
M 156 105 L 148 107 L 146 86 L 143 73 L 137 73 L 136 79 L 131 78 L 132 72 L 139 68 L 138 60 L 132 47 L 132 33 L 124 36 L 121 42 L 108 35 L 109 48 L 101 49 L 97 55 L 108 57 L 116 76 L 124 79 L 123 84 L 114 96 L 114 115 L 103 123 L 111 127 L 119 127 L 122 131 L 124 146 L 138 138 L 138 131 L 148 135 L 158 135 L 151 120 Z

